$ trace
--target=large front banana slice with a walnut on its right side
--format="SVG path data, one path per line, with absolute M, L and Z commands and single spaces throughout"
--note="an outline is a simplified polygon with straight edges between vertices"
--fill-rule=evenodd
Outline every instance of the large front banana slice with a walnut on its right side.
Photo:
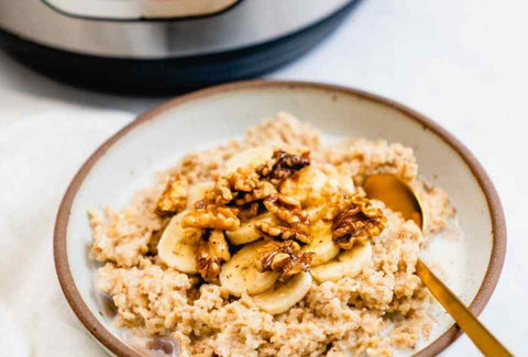
M 220 271 L 220 285 L 230 294 L 240 297 L 242 293 L 257 294 L 272 288 L 278 279 L 275 271 L 261 272 L 256 269 L 258 249 L 264 241 L 251 243 L 231 257 Z

